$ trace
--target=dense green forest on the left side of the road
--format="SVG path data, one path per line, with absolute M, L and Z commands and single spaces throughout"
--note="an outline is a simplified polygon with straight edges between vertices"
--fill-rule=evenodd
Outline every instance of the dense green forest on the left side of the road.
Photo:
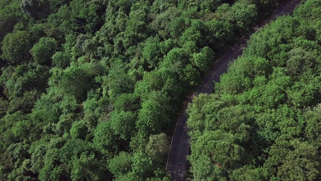
M 1 0 L 0 180 L 169 180 L 184 98 L 278 3 Z

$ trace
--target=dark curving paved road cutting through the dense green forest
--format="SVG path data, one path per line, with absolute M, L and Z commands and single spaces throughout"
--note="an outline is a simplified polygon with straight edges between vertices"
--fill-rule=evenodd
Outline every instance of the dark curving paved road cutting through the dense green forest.
M 284 4 L 280 5 L 272 14 L 272 16 L 258 24 L 251 32 L 249 32 L 245 37 L 243 37 L 238 43 L 236 43 L 231 49 L 229 49 L 224 55 L 222 55 L 211 68 L 211 71 L 206 77 L 203 78 L 203 84 L 198 87 L 195 95 L 200 93 L 212 93 L 214 89 L 214 81 L 219 81 L 220 75 L 226 72 L 228 64 L 231 60 L 236 59 L 242 54 L 243 48 L 246 45 L 249 37 L 258 29 L 265 26 L 272 20 L 282 15 L 287 15 L 291 13 L 294 8 L 300 3 L 300 0 L 285 0 Z M 176 125 L 174 136 L 171 143 L 171 150 L 169 153 L 169 158 L 167 162 L 167 171 L 170 172 L 172 180 L 184 180 L 185 170 L 186 170 L 186 156 L 189 152 L 191 138 L 187 134 L 188 127 L 186 125 L 187 114 L 186 108 L 188 103 L 192 102 L 192 97 L 190 97 L 186 104 L 184 105 L 183 113 L 179 117 L 178 123 Z

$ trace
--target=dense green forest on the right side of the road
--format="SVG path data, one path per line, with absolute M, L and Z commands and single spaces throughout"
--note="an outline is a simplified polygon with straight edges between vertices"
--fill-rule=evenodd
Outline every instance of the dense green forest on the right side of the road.
M 252 35 L 188 108 L 194 180 L 320 180 L 321 1 Z

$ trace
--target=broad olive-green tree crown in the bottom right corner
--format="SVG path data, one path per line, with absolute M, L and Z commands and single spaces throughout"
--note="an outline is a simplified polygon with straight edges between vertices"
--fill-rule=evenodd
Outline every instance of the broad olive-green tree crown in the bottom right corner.
M 271 157 L 266 166 L 277 167 L 277 177 L 282 180 L 313 180 L 319 176 L 316 147 L 298 139 L 277 140 L 271 147 Z M 278 166 L 279 165 L 279 166 Z

